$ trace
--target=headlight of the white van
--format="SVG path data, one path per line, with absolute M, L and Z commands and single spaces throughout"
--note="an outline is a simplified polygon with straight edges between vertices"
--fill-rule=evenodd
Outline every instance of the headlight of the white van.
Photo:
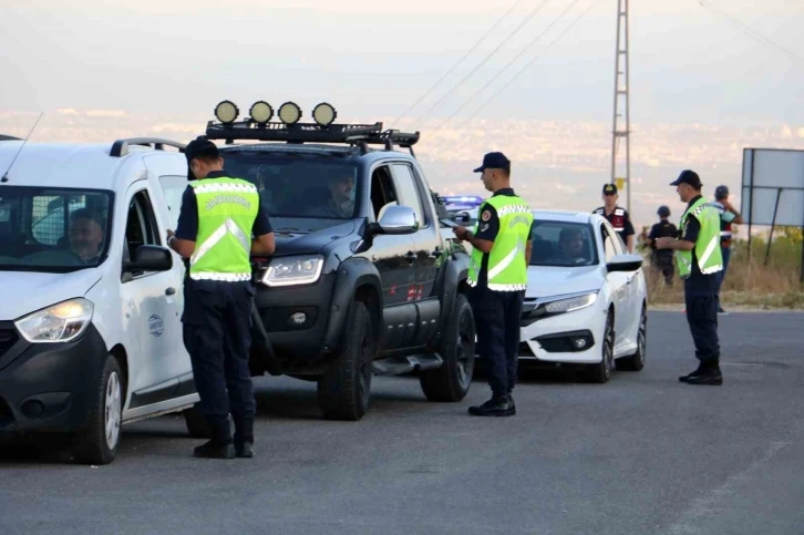
M 80 297 L 28 315 L 14 326 L 32 343 L 69 342 L 86 330 L 93 310 L 92 301 Z

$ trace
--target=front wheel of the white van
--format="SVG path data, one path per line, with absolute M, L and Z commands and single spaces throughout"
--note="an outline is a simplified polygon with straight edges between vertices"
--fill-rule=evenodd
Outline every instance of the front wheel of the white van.
M 109 464 L 117 455 L 123 416 L 123 382 L 117 359 L 106 357 L 91 395 L 90 425 L 73 439 L 73 457 L 82 464 Z

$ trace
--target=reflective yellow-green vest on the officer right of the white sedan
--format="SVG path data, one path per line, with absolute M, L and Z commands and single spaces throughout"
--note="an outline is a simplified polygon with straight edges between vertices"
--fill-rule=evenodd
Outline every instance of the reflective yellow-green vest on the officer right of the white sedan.
M 687 232 L 690 215 L 701 222 L 701 230 L 694 247 L 699 269 L 703 275 L 720 271 L 723 269 L 723 254 L 720 250 L 720 214 L 707 203 L 707 199 L 701 197 L 681 216 L 679 226 L 681 236 Z M 679 276 L 682 279 L 689 278 L 692 272 L 692 251 L 677 250 L 676 261 L 679 267 Z

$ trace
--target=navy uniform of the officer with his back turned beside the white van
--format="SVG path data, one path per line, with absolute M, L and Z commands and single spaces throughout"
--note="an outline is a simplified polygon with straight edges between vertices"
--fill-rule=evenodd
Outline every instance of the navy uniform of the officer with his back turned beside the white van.
M 224 172 L 213 172 L 207 178 L 224 176 L 227 176 Z M 257 236 L 271 232 L 262 203 L 252 232 Z M 197 235 L 198 200 L 193 188 L 187 186 L 182 197 L 176 237 L 196 241 Z M 193 364 L 200 409 L 209 420 L 214 439 L 221 442 L 231 440 L 228 420 L 231 413 L 236 445 L 254 443 L 256 402 L 248 358 L 255 294 L 251 281 L 193 280 L 189 270 L 184 280 L 183 337 Z

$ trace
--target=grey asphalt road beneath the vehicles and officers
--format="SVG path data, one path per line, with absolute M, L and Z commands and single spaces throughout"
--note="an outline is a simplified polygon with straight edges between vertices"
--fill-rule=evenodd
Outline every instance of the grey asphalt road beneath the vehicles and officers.
M 684 318 L 652 312 L 649 363 L 605 385 L 526 373 L 518 414 L 375 382 L 362 422 L 319 418 L 315 384 L 260 379 L 258 457 L 188 456 L 174 416 L 126 429 L 100 469 L 0 456 L 11 534 L 801 534 L 804 315 L 721 319 L 725 384 L 691 387 Z

